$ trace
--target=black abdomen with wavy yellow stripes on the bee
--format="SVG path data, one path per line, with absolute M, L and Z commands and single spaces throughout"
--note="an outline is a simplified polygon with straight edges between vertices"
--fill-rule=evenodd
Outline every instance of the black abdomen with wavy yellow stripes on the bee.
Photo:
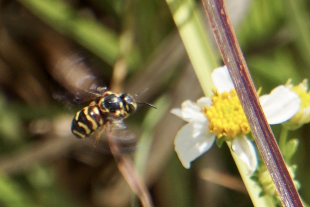
M 85 138 L 106 122 L 98 106 L 86 106 L 76 113 L 72 120 L 71 131 L 76 137 Z

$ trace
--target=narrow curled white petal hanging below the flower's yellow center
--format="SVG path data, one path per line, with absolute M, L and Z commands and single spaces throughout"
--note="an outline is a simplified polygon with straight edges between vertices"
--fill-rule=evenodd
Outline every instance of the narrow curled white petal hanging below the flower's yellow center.
M 249 174 L 257 168 L 257 157 L 253 143 L 246 136 L 237 136 L 232 140 L 232 150 L 246 164 Z

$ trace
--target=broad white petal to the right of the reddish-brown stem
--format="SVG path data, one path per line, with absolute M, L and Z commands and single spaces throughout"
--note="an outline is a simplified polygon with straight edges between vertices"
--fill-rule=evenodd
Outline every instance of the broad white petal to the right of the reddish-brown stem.
M 298 95 L 281 85 L 270 94 L 259 97 L 260 104 L 269 124 L 280 124 L 292 118 L 299 110 Z

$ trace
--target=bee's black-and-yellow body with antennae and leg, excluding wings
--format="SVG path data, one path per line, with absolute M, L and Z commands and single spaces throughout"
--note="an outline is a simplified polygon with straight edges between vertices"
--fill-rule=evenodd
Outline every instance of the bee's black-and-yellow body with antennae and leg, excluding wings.
M 118 94 L 108 90 L 104 91 L 100 97 L 76 113 L 72 120 L 72 133 L 77 138 L 83 139 L 89 137 L 101 127 L 95 139 L 94 146 L 96 146 L 106 126 L 108 124 L 113 126 L 113 124 L 115 125 L 133 114 L 138 103 L 156 108 L 151 104 L 135 101 L 135 97 L 127 93 Z

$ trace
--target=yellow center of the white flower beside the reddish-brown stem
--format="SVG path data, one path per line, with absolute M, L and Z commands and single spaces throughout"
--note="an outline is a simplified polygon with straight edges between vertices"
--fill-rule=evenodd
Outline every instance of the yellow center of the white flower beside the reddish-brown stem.
M 232 89 L 229 93 L 219 94 L 213 88 L 213 93 L 211 107 L 202 107 L 202 112 L 209 120 L 209 132 L 214 133 L 219 138 L 222 136 L 235 137 L 240 133 L 249 133 L 250 126 L 237 97 L 236 90 Z

